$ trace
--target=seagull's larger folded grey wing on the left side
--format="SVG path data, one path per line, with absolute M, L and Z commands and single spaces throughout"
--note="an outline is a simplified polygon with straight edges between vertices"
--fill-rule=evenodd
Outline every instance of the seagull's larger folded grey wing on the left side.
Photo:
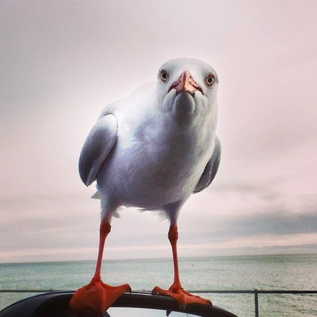
M 79 157 L 79 175 L 89 186 L 96 180 L 101 164 L 117 140 L 117 119 L 113 114 L 100 117 L 91 129 Z

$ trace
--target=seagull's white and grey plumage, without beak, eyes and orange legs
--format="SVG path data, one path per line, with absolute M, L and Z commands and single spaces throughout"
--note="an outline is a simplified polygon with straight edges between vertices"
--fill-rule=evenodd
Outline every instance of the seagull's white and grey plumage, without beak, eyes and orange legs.
M 166 82 L 160 79 L 161 70 L 168 72 Z M 183 70 L 192 74 L 203 94 L 168 91 Z M 210 74 L 214 83 L 208 87 Z M 201 61 L 171 60 L 160 68 L 157 85 L 145 85 L 102 111 L 79 162 L 83 182 L 97 180 L 102 217 L 110 220 L 125 205 L 160 210 L 176 221 L 190 194 L 208 184 L 210 179 L 196 188 L 215 146 L 213 173 L 219 163 L 217 82 L 215 71 Z

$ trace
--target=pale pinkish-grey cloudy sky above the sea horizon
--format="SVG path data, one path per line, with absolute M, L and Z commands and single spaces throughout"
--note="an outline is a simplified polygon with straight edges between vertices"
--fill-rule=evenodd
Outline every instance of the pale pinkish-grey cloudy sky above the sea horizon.
M 105 105 L 187 56 L 218 72 L 222 161 L 179 217 L 179 255 L 317 252 L 317 2 L 0 2 L 0 262 L 95 259 L 78 175 Z M 106 258 L 171 255 L 168 223 L 114 219 Z

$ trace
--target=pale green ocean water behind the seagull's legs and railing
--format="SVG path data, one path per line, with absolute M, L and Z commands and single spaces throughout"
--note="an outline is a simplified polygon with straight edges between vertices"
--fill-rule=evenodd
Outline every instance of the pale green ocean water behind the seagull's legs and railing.
M 0 264 L 0 290 L 76 290 L 89 283 L 95 261 Z M 317 254 L 180 258 L 186 290 L 317 290 Z M 134 291 L 168 288 L 171 259 L 105 260 L 105 283 Z M 30 293 L 0 293 L 0 309 Z M 239 317 L 254 317 L 253 294 L 199 294 Z M 317 295 L 259 294 L 260 317 L 317 317 Z

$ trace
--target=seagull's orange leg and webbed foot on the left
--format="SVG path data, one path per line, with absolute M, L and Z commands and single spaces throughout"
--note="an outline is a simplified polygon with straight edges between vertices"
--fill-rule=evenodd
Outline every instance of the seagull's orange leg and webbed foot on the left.
M 102 317 L 107 309 L 125 292 L 131 292 L 129 284 L 110 286 L 101 280 L 101 262 L 105 240 L 111 230 L 108 221 L 102 220 L 100 224 L 99 251 L 96 272 L 88 285 L 78 289 L 72 297 L 69 306 L 76 314 L 86 314 Z

